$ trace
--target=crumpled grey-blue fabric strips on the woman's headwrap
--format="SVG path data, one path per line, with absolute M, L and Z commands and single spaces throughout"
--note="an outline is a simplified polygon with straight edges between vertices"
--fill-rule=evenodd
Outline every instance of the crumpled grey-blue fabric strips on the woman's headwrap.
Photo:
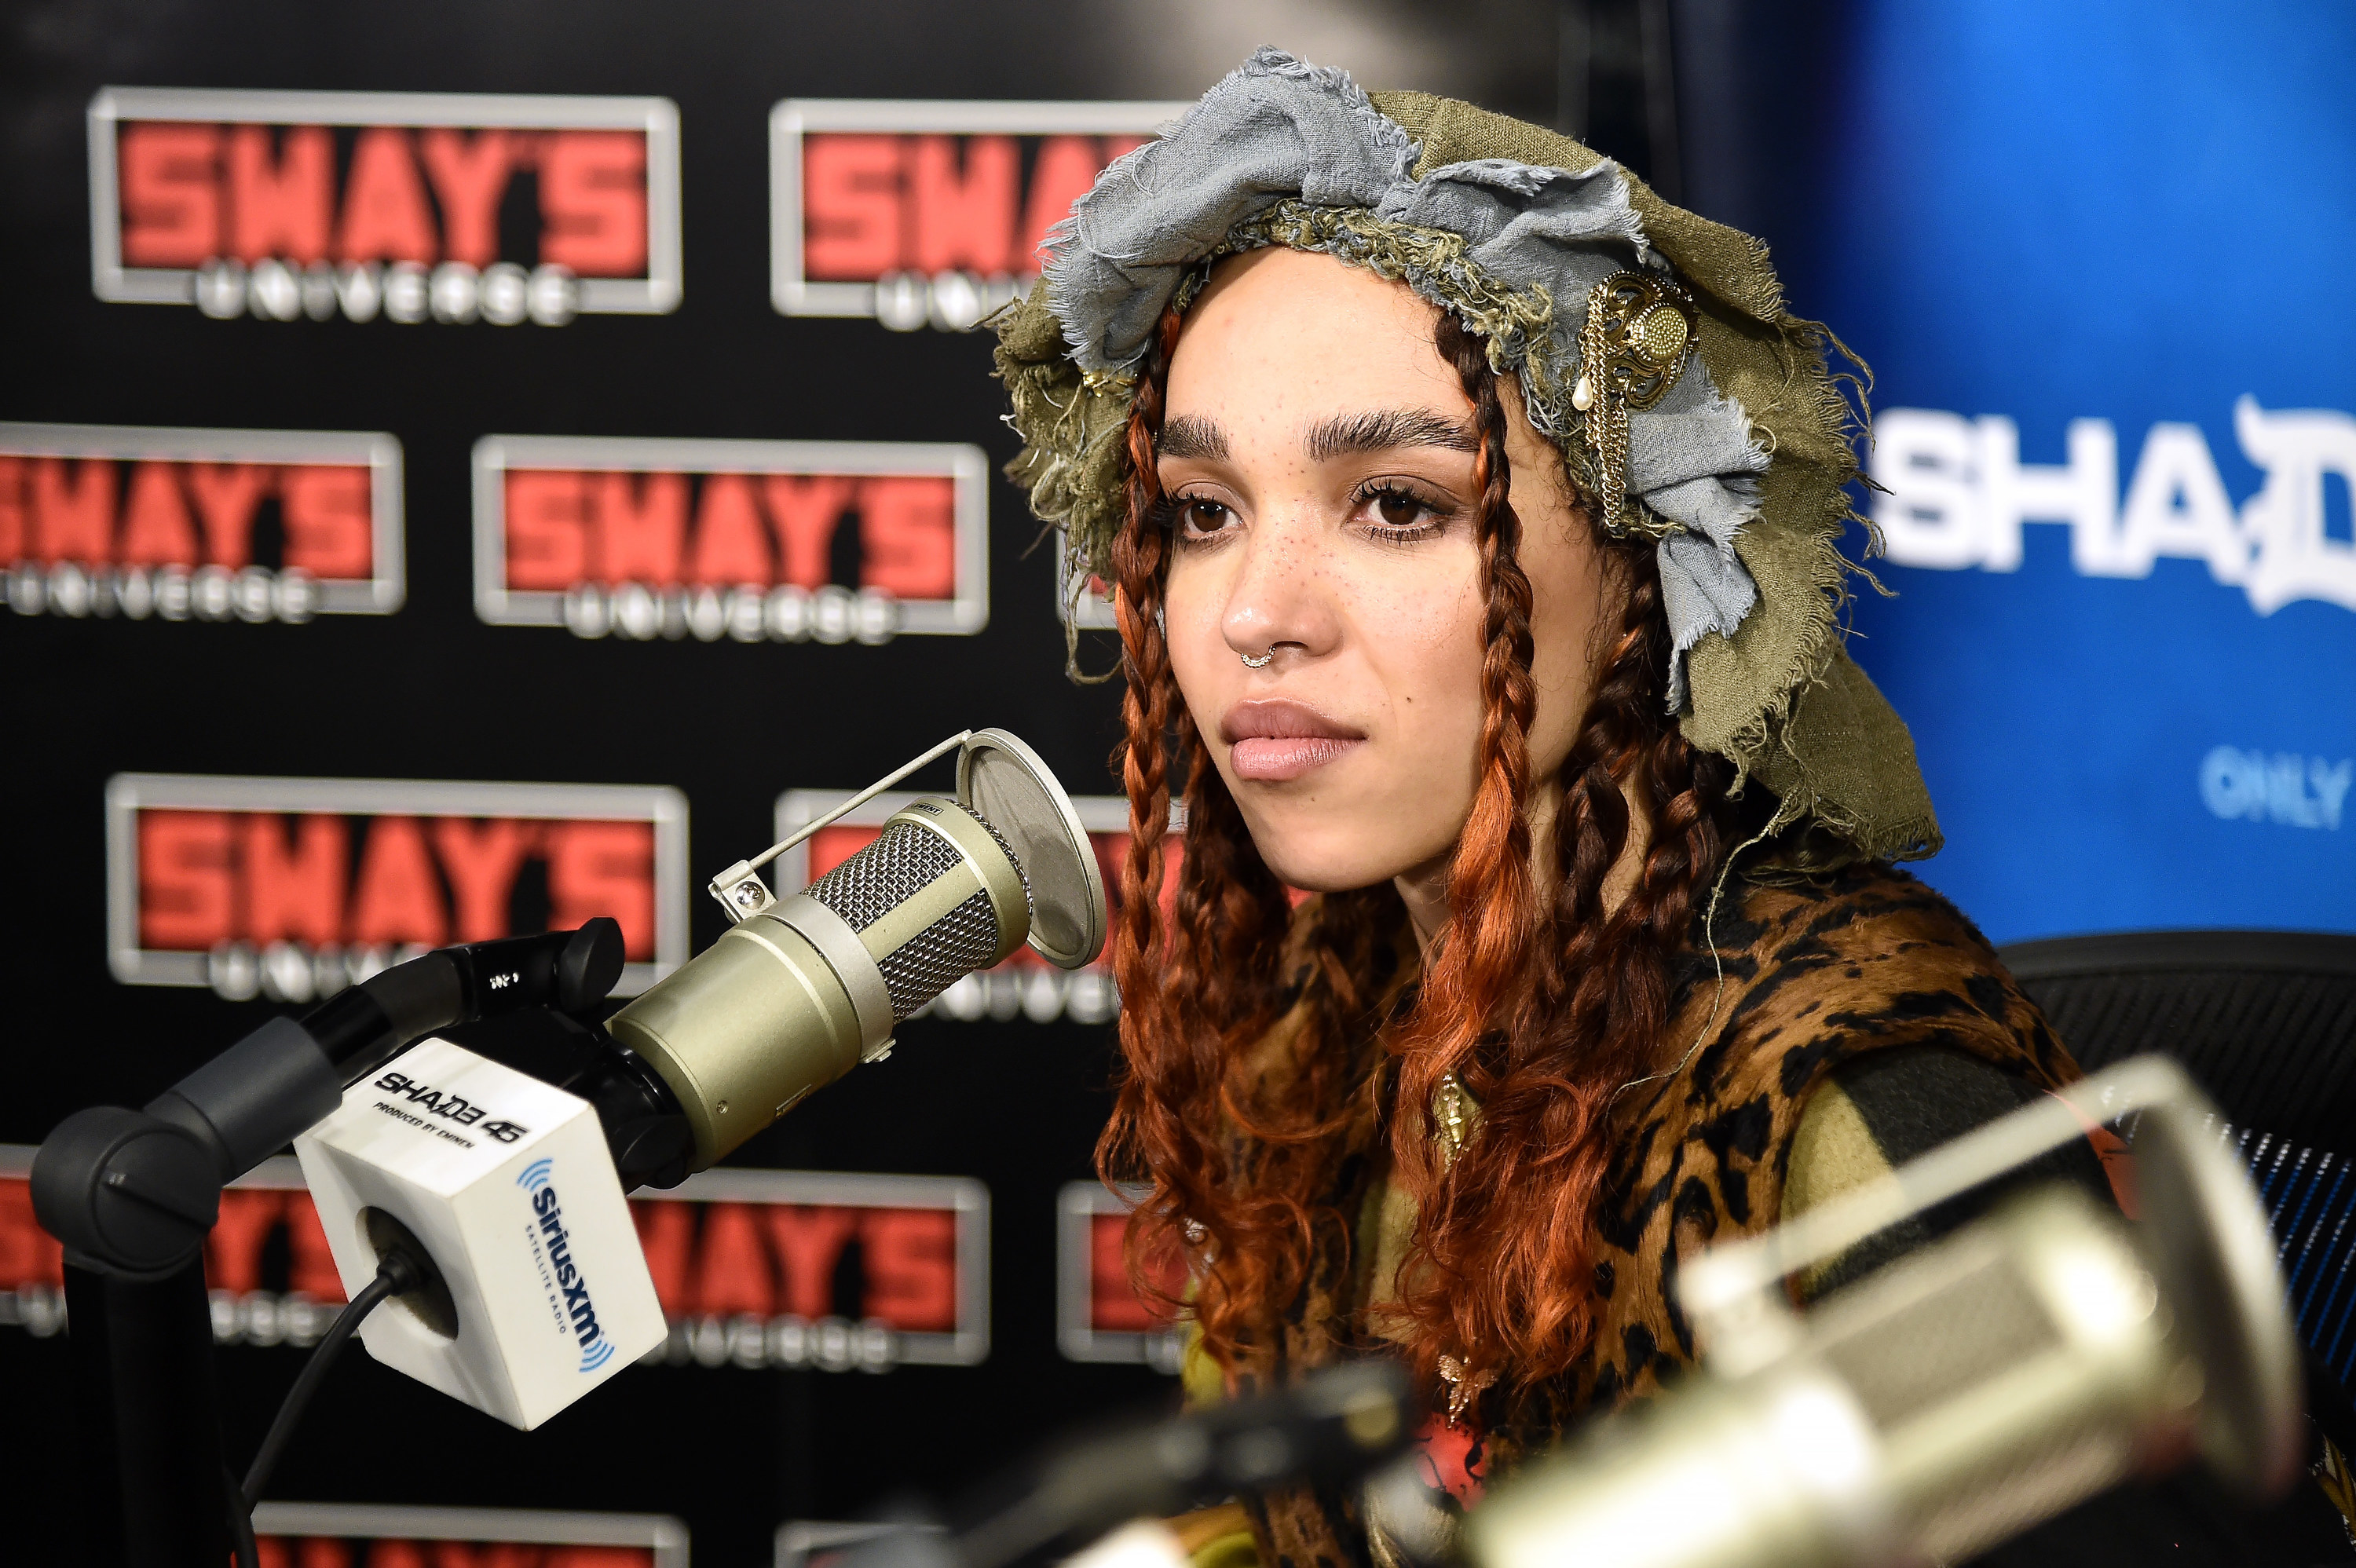
M 1124 155 L 1048 238 L 1046 297 L 1084 372 L 1133 370 L 1187 273 L 1237 224 L 1282 200 L 1362 207 L 1378 221 L 1463 235 L 1463 264 L 1555 301 L 1546 358 L 1562 384 L 1579 363 L 1588 290 L 1628 268 L 1668 273 L 1628 205 L 1616 162 L 1586 172 L 1482 158 L 1411 174 L 1421 148 L 1341 71 L 1260 49 L 1159 141 Z M 1338 250 L 1338 247 L 1336 247 Z M 1454 311 L 1451 278 L 1409 268 L 1404 283 Z M 1461 283 L 1461 280 L 1458 280 Z M 1520 372 L 1529 341 L 1501 339 Z M 1571 412 L 1522 374 L 1536 428 L 1571 440 Z M 1718 393 L 1701 356 L 1652 410 L 1628 414 L 1628 492 L 1675 532 L 1661 539 L 1661 603 L 1673 652 L 1668 711 L 1685 709 L 1685 652 L 1732 636 L 1758 603 L 1734 534 L 1758 513 L 1767 452 L 1739 403 Z

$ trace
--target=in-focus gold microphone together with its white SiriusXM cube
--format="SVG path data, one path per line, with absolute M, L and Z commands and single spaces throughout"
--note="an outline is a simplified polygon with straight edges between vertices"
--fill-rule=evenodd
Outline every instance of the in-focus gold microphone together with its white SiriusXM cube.
M 763 862 L 952 749 L 954 798 L 912 800 L 815 885 L 770 895 Z M 949 737 L 712 892 L 735 925 L 608 1022 L 627 1050 L 589 1052 L 596 1071 L 544 1083 L 429 1038 L 294 1140 L 346 1293 L 393 1245 L 434 1260 L 431 1290 L 360 1330 L 377 1361 L 537 1427 L 664 1335 L 629 1187 L 721 1158 L 1015 946 L 1077 968 L 1105 939 L 1079 815 L 1004 730 Z

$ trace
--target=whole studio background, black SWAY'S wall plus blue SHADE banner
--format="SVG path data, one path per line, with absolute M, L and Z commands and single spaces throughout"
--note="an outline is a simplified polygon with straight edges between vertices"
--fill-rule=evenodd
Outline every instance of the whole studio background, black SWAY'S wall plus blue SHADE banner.
M 1948 829 L 1925 873 L 1993 937 L 2356 928 L 2356 308 L 2323 283 L 2356 35 L 2288 0 L 1859 0 L 1798 42 L 1668 9 L 1670 111 L 1612 54 L 1633 5 L 16 7 L 0 1559 L 71 1559 L 94 1507 L 21 1180 L 66 1111 L 415 946 L 613 913 L 636 994 L 719 935 L 714 869 L 968 725 L 1112 852 L 1117 699 L 1063 678 L 1070 584 L 968 327 L 1258 42 L 1593 113 L 1779 245 L 1880 374 L 1899 596 L 1857 600 L 1857 655 Z M 1798 111 L 1736 89 L 1802 45 Z M 1088 1163 L 1114 1005 L 1100 965 L 1008 963 L 646 1196 L 671 1340 L 537 1434 L 351 1356 L 276 1561 L 801 1563 L 1166 1406 Z M 337 1297 L 290 1165 L 229 1194 L 207 1269 L 247 1455 Z

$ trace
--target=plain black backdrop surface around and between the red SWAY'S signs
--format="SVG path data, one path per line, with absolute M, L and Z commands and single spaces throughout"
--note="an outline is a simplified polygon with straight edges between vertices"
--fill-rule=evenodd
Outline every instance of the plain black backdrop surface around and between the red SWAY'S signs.
M 0 614 L 12 826 L 0 1142 L 38 1142 L 82 1104 L 137 1104 L 271 1012 L 108 975 L 101 793 L 115 772 L 671 784 L 690 803 L 697 885 L 768 843 L 777 789 L 855 786 L 964 725 L 1006 725 L 1074 793 L 1110 791 L 1112 690 L 1060 678 L 1048 553 L 1027 553 L 1037 530 L 1004 480 L 992 478 L 992 605 L 975 638 L 582 640 L 476 619 L 469 450 L 497 431 L 945 440 L 978 443 L 992 464 L 1011 454 L 985 337 L 770 308 L 766 115 L 787 97 L 1171 99 L 1275 40 L 1371 85 L 1571 115 L 1663 186 L 1675 179 L 1666 155 L 1652 158 L 1663 120 L 1644 101 L 1644 82 L 1663 80 L 1647 61 L 1659 66 L 1666 45 L 1640 26 L 1666 5 L 1232 9 L 9 7 L 0 419 L 391 431 L 408 598 L 391 617 L 302 626 Z M 683 129 L 683 304 L 561 330 L 104 304 L 85 151 L 85 108 L 104 85 L 664 97 Z M 719 911 L 697 895 L 695 946 L 716 930 Z M 631 1368 L 525 1436 L 353 1356 L 273 1493 L 681 1514 L 697 1563 L 759 1563 L 782 1519 L 843 1519 L 895 1488 L 945 1488 L 1079 1417 L 1166 1398 L 1145 1368 L 1079 1366 L 1055 1349 L 1053 1201 L 1088 1172 L 1107 1071 L 1105 1026 L 921 1019 L 886 1067 L 733 1158 L 980 1177 L 992 1196 L 982 1366 L 884 1377 Z M 64 1366 L 64 1340 L 0 1330 L 9 1561 L 73 1556 Z M 252 1453 L 297 1366 L 292 1349 L 221 1351 L 233 1455 Z

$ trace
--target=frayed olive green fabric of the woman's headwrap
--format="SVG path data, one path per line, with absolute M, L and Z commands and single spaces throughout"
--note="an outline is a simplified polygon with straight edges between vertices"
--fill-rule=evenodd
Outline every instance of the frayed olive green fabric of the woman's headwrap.
M 1470 104 L 1418 92 L 1376 92 L 1371 104 L 1418 144 L 1411 170 L 1418 179 L 1475 160 L 1574 174 L 1604 162 L 1567 137 Z M 1849 662 L 1838 624 L 1849 570 L 1838 539 L 1852 516 L 1857 417 L 1826 367 L 1828 334 L 1783 308 L 1762 245 L 1670 207 L 1616 165 L 1614 172 L 1626 179 L 1644 242 L 1694 297 L 1696 348 L 1708 379 L 1741 407 L 1769 454 L 1755 487 L 1755 516 L 1732 537 L 1734 556 L 1758 584 L 1758 603 L 1732 636 L 1710 631 L 1692 645 L 1682 732 L 1779 798 L 1776 829 L 1786 831 L 1776 836 L 1774 862 L 1814 871 L 1857 857 L 1932 855 L 1939 826 L 1913 739 Z M 1249 242 L 1270 242 L 1268 231 L 1260 221 Z M 1275 240 L 1296 242 L 1282 231 Z M 1206 245 L 1202 254 L 1232 247 Z M 1362 264 L 1383 271 L 1378 261 Z M 1416 285 L 1428 297 L 1435 292 L 1428 275 Z M 1440 280 L 1437 294 L 1468 320 L 1494 315 L 1494 301 L 1458 299 L 1449 280 Z M 1030 492 L 1044 520 L 1065 530 L 1074 584 L 1088 570 L 1107 572 L 1126 506 L 1124 428 L 1133 379 L 1117 365 L 1081 372 L 1065 323 L 1048 306 L 1046 283 L 1001 315 L 997 360 L 1013 396 L 1013 426 L 1025 438 L 1008 476 Z M 1583 443 L 1567 431 L 1555 436 L 1574 476 L 1586 476 Z

